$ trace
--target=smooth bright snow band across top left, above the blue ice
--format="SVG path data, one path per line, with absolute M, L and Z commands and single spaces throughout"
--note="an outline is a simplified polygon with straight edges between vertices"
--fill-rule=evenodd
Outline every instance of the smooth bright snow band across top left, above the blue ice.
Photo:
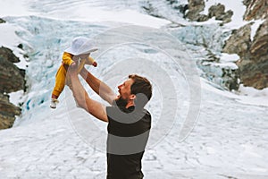
M 52 7 L 52 10 L 46 9 L 46 13 L 29 11 L 31 2 L 29 0 L 22 0 L 18 3 L 15 0 L 2 0 L 0 1 L 0 17 L 5 16 L 23 16 L 23 15 L 38 15 L 41 17 L 49 17 L 56 20 L 69 20 L 69 21 L 117 21 L 131 23 L 135 25 L 142 25 L 148 27 L 160 28 L 163 25 L 170 23 L 170 21 L 155 18 L 147 14 L 138 13 L 130 9 L 124 10 L 107 10 L 103 7 L 92 7 L 92 2 L 80 3 L 79 1 L 65 2 L 64 8 Z M 54 4 L 53 1 L 44 3 Z M 64 3 L 63 3 L 64 4 Z M 69 5 L 68 5 L 69 4 Z M 74 5 L 73 5 L 74 4 Z M 40 4 L 39 4 L 40 5 Z M 13 8 L 10 8 L 10 7 Z M 48 5 L 47 8 L 50 6 Z M 149 23 L 148 23 L 149 21 Z

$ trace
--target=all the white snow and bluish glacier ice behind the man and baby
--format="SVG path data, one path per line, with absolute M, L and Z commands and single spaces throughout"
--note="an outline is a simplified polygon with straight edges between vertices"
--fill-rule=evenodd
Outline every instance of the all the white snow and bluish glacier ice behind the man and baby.
M 60 54 L 78 33 L 98 36 L 99 46 L 104 49 L 93 54 L 98 67 L 88 69 L 114 90 L 130 71 L 146 75 L 154 84 L 154 96 L 147 106 L 154 118 L 143 158 L 145 178 L 268 177 L 267 89 L 240 86 L 239 91 L 230 92 L 214 88 L 205 79 L 188 78 L 197 71 L 194 59 L 204 57 L 205 53 L 198 47 L 188 47 L 187 42 L 198 41 L 202 35 L 210 39 L 211 34 L 207 32 L 217 31 L 213 21 L 207 30 L 185 27 L 170 36 L 162 29 L 155 30 L 167 21 L 138 13 L 131 1 L 113 4 L 65 0 L 62 8 L 53 0 L 41 4 L 26 0 L 8 2 L 11 3 L 0 2 L 1 15 L 4 12 L 8 21 L 0 24 L 0 41 L 19 55 L 25 52 L 16 46 L 25 45 L 29 53 L 26 69 L 29 90 L 10 94 L 14 104 L 24 102 L 23 115 L 17 118 L 13 128 L 0 131 L 0 178 L 105 178 L 106 124 L 76 107 L 68 88 L 59 98 L 57 109 L 49 108 Z M 229 5 L 226 10 L 239 5 L 232 9 L 238 12 L 234 20 L 238 25 L 243 23 L 238 15 L 244 8 L 241 2 L 223 2 Z M 102 3 L 113 5 L 106 11 Z M 10 8 L 11 4 L 14 8 Z M 94 16 L 84 13 L 89 6 Z M 63 13 L 66 16 L 62 17 Z M 143 27 L 121 28 L 126 22 Z M 134 43 L 137 38 L 138 43 Z M 185 39 L 180 42 L 177 38 Z M 217 49 L 214 43 L 209 45 Z M 220 65 L 229 66 L 239 58 L 227 54 L 219 57 Z M 100 100 L 92 90 L 87 90 L 92 98 Z M 197 98 L 190 100 L 193 93 Z M 189 111 L 197 118 L 192 131 L 181 140 L 180 130 Z M 173 115 L 173 118 L 161 120 L 161 115 Z M 168 130 L 155 140 L 163 128 Z

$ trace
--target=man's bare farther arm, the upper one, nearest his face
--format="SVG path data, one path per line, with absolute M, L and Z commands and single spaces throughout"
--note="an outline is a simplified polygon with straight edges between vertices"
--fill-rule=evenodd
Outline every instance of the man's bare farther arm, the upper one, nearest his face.
M 116 94 L 108 85 L 105 84 L 105 82 L 97 79 L 93 74 L 88 72 L 85 67 L 81 70 L 80 75 L 87 81 L 88 85 L 96 92 L 96 94 L 109 104 L 112 104 L 113 99 L 116 98 Z

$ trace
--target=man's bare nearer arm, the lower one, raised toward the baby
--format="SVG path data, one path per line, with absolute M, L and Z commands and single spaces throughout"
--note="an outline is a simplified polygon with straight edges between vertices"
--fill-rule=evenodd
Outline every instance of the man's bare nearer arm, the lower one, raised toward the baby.
M 96 118 L 108 122 L 105 106 L 96 100 L 89 98 L 87 91 L 82 86 L 77 74 L 77 65 L 71 65 L 67 75 L 70 75 L 70 89 L 78 106 L 84 108 L 89 114 L 94 115 Z

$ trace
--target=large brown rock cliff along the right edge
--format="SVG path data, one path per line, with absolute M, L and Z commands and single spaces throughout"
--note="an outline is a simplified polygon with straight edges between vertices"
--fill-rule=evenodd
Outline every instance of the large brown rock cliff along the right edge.
M 262 90 L 268 87 L 268 2 L 244 0 L 243 3 L 247 5 L 245 20 L 264 19 L 264 22 L 256 30 L 253 40 L 250 38 L 253 23 L 233 30 L 223 52 L 238 54 L 240 81 L 245 86 Z

